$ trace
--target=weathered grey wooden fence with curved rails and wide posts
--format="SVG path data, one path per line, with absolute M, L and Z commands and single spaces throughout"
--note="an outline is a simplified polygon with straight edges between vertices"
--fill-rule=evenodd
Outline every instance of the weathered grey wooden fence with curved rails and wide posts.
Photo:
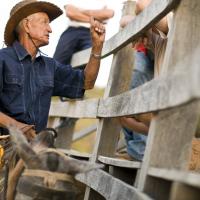
M 133 14 L 134 7 L 135 2 L 128 1 L 122 15 Z M 172 31 L 162 75 L 128 91 L 135 59 L 130 42 L 172 10 Z M 86 185 L 85 200 L 200 199 L 200 176 L 188 172 L 200 111 L 199 39 L 199 0 L 153 0 L 125 28 L 104 43 L 103 57 L 114 54 L 104 98 L 52 102 L 49 126 L 58 124 L 60 117 L 74 118 L 67 130 L 59 129 L 57 147 L 73 157 L 105 164 L 103 170 L 76 176 Z M 86 64 L 90 51 L 74 54 L 72 66 Z M 120 126 L 113 117 L 148 112 L 153 112 L 154 116 L 143 162 L 114 159 Z M 91 154 L 70 150 L 76 118 L 99 119 Z M 82 137 L 84 131 L 80 135 Z

